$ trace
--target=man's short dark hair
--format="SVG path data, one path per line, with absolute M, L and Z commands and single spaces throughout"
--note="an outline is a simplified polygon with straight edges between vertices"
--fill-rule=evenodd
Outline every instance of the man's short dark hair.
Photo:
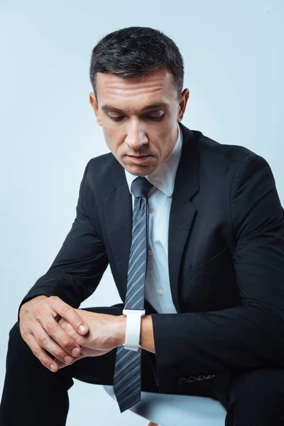
M 97 72 L 113 72 L 119 77 L 146 75 L 168 67 L 173 84 L 182 94 L 184 67 L 177 45 L 161 31 L 132 26 L 105 35 L 92 50 L 89 79 L 97 97 Z

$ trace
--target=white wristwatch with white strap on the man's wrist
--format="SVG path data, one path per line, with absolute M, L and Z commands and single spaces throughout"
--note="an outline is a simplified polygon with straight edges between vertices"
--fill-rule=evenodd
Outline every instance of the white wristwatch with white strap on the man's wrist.
M 141 345 L 139 344 L 141 317 L 145 315 L 145 309 L 124 309 L 122 313 L 123 315 L 126 315 L 126 334 L 125 343 L 123 344 L 124 349 L 138 351 L 138 348 L 141 348 Z

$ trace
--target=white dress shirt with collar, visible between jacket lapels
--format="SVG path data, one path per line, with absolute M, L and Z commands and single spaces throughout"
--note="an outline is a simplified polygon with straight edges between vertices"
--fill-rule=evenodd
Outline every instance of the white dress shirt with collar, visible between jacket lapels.
M 175 175 L 180 161 L 182 149 L 182 131 L 178 125 L 178 138 L 173 150 L 167 158 L 158 165 L 146 179 L 154 187 L 148 192 L 149 227 L 148 227 L 148 263 L 146 271 L 145 298 L 158 313 L 177 313 L 170 291 L 170 278 L 168 273 L 168 227 L 170 218 L 170 205 L 175 185 Z M 131 184 L 136 175 L 125 170 L 129 191 L 132 195 L 132 208 L 134 197 Z M 140 329 L 138 330 L 140 332 Z

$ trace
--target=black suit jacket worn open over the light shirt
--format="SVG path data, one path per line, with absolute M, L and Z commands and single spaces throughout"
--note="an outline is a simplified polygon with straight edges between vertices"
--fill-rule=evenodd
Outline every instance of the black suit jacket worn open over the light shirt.
M 284 220 L 264 158 L 180 124 L 182 153 L 170 209 L 168 266 L 177 314 L 152 314 L 160 392 L 188 376 L 284 366 Z M 72 307 L 96 290 L 108 264 L 121 300 L 131 248 L 132 200 L 112 153 L 87 163 L 77 215 L 36 295 Z M 21 307 L 20 305 L 20 307 Z

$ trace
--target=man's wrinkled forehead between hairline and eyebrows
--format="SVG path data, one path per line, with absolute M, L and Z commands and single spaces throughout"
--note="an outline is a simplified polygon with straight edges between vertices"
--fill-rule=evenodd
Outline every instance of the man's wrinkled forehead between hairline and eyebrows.
M 172 74 L 166 68 L 135 77 L 98 72 L 97 98 L 99 107 L 112 105 L 118 109 L 143 109 L 148 104 L 175 102 L 176 90 Z

